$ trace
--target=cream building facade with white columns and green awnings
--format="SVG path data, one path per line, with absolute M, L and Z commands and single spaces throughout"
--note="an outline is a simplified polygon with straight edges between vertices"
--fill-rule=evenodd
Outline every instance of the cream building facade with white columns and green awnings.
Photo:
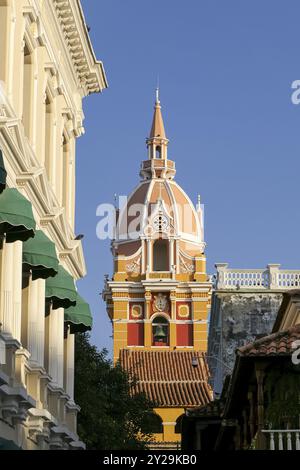
M 0 47 L 0 449 L 82 449 L 76 139 L 105 72 L 79 0 L 0 0 Z

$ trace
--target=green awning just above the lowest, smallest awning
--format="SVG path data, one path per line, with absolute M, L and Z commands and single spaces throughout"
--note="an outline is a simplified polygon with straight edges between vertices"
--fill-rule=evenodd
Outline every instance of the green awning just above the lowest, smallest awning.
M 55 277 L 46 280 L 46 299 L 52 301 L 52 308 L 69 308 L 76 305 L 77 291 L 72 276 L 62 267 L 58 266 Z

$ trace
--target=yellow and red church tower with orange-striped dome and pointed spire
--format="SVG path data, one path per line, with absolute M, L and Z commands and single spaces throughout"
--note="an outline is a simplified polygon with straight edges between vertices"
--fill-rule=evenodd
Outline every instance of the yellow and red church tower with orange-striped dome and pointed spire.
M 157 91 L 146 140 L 148 158 L 141 164 L 140 183 L 117 211 L 112 242 L 114 273 L 106 281 L 103 296 L 113 325 L 114 361 L 129 364 L 130 355 L 134 361 L 139 356 L 145 368 L 151 363 L 152 369 L 161 373 L 162 364 L 172 358 L 172 368 L 180 362 L 181 367 L 190 368 L 191 377 L 186 370 L 178 376 L 161 377 L 161 382 L 169 382 L 171 388 L 172 383 L 182 382 L 187 389 L 188 382 L 197 380 L 197 361 L 199 380 L 206 382 L 208 374 L 203 353 L 207 349 L 211 282 L 206 273 L 200 198 L 195 207 L 174 180 L 176 169 L 168 159 L 168 143 Z M 142 369 L 139 367 L 141 382 L 146 382 L 149 374 Z M 150 379 L 160 387 L 160 377 Z M 184 407 L 199 406 L 201 400 L 196 403 L 195 396 L 195 403 L 190 403 L 191 398 L 180 403 L 179 398 L 159 398 L 161 390 L 151 393 L 150 398 L 161 405 L 156 409 L 163 424 L 157 440 L 178 441 L 176 420 Z M 208 388 L 206 393 L 210 396 Z

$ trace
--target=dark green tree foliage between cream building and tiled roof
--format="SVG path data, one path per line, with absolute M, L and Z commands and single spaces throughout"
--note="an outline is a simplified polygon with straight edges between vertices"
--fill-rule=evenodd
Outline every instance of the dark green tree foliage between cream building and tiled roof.
M 153 405 L 144 394 L 132 393 L 134 385 L 120 365 L 113 366 L 105 349 L 98 351 L 89 343 L 88 334 L 76 334 L 78 434 L 87 449 L 147 448 Z

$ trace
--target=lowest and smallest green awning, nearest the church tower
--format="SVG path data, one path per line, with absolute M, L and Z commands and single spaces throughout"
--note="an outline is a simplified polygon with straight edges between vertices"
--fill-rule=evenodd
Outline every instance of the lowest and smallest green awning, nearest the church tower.
M 65 322 L 70 325 L 71 333 L 92 329 L 93 318 L 89 304 L 77 294 L 75 307 L 65 309 Z

